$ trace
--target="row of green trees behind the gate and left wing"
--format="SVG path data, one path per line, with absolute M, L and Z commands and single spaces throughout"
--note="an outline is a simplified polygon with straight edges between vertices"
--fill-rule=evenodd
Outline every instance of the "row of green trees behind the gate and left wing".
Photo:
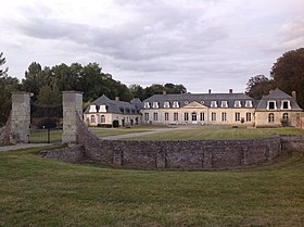
M 0 55 L 0 66 L 5 64 L 3 53 Z M 90 103 L 102 94 L 110 99 L 119 97 L 122 101 L 130 101 L 132 98 L 144 100 L 153 94 L 185 93 L 183 85 L 153 84 L 145 88 L 140 85 L 126 86 L 115 80 L 111 74 L 103 73 L 98 63 L 81 65 L 64 63 L 54 66 L 42 67 L 33 62 L 25 72 L 21 81 L 8 75 L 8 68 L 0 71 L 0 125 L 7 122 L 11 110 L 11 91 L 22 90 L 34 93 L 33 101 L 36 105 L 56 106 L 62 103 L 62 91 L 77 90 L 84 92 L 85 104 Z

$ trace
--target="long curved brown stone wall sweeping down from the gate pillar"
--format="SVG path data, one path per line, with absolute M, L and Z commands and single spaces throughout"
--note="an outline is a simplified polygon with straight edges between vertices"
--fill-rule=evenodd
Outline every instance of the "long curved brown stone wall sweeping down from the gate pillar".
M 137 168 L 221 169 L 271 162 L 287 153 L 280 137 L 249 140 L 102 140 L 78 117 L 77 141 L 89 160 Z M 286 140 L 286 147 L 290 147 Z

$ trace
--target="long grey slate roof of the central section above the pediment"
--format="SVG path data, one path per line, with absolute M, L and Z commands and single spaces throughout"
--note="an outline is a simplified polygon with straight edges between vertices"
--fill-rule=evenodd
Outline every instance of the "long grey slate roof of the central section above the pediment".
M 220 106 L 221 101 L 227 101 L 228 108 L 235 106 L 235 101 L 241 101 L 241 106 L 245 106 L 245 101 L 251 100 L 253 108 L 257 105 L 255 100 L 244 93 L 177 93 L 177 94 L 154 94 L 143 102 L 159 102 L 160 106 L 164 106 L 164 102 L 169 102 L 170 106 L 175 101 L 179 102 L 179 106 L 182 108 L 193 101 L 201 103 L 205 106 L 211 106 L 212 101 L 217 102 L 217 106 Z

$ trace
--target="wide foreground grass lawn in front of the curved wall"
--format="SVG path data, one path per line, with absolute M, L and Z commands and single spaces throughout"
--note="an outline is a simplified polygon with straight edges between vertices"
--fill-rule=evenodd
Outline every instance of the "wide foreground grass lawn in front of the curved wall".
M 0 226 L 303 226 L 304 153 L 242 171 L 134 171 L 0 153 Z

